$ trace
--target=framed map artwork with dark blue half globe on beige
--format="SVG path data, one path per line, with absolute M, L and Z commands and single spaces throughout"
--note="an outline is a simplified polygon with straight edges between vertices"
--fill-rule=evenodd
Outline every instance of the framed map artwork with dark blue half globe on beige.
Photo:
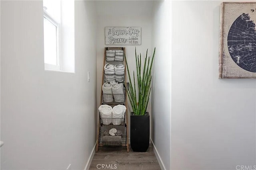
M 222 2 L 219 78 L 256 78 L 256 2 Z

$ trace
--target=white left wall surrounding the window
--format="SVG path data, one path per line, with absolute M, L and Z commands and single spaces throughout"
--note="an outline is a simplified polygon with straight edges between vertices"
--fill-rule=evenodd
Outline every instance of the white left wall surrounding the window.
M 54 72 L 44 70 L 42 1 L 1 1 L 2 169 L 84 169 L 96 139 L 94 11 L 75 2 L 75 73 Z

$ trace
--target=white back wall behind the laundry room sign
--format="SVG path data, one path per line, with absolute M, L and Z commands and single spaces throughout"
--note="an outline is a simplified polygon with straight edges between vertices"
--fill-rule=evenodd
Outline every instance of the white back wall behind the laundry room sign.
M 126 47 L 126 57 L 130 71 L 136 70 L 135 47 L 142 56 L 152 54 L 152 1 L 96 1 L 97 6 L 97 99 L 100 106 L 104 47 Z M 105 27 L 141 27 L 141 45 L 105 45 Z M 127 75 L 128 76 L 128 75 Z M 127 77 L 128 80 L 128 77 Z M 128 98 L 127 98 L 128 99 Z M 130 117 L 131 107 L 128 107 Z M 148 104 L 151 114 L 151 104 Z M 130 118 L 129 118 L 130 119 Z M 130 123 L 129 123 L 130 124 Z M 129 126 L 130 127 L 130 126 Z M 130 136 L 130 135 L 129 135 Z

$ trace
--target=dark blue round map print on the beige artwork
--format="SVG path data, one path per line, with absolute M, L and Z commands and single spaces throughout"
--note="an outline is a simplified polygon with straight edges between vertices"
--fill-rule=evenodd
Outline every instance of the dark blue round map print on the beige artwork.
M 256 72 L 256 30 L 249 14 L 241 14 L 231 25 L 228 32 L 228 51 L 238 66 Z

